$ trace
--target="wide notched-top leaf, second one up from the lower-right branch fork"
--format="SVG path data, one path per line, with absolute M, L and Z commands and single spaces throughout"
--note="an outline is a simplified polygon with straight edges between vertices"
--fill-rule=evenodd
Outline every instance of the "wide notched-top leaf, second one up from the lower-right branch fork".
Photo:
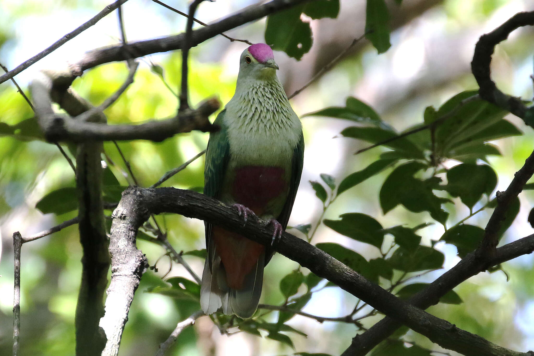
M 443 266 L 445 256 L 438 250 L 419 246 L 415 251 L 399 247 L 393 252 L 389 263 L 393 268 L 404 272 L 437 270 Z

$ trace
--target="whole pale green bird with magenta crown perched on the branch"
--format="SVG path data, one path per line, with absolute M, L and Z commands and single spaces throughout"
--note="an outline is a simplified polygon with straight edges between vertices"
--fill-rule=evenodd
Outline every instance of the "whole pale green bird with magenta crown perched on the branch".
M 285 231 L 299 187 L 304 153 L 302 124 L 280 83 L 269 45 L 241 53 L 235 94 L 214 121 L 206 151 L 204 194 Z M 238 233 L 205 222 L 207 258 L 200 305 L 242 319 L 256 312 L 263 268 L 274 251 Z

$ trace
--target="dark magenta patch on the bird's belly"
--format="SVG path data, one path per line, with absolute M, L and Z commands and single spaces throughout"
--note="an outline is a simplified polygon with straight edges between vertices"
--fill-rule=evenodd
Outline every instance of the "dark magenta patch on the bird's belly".
M 285 169 L 281 167 L 247 165 L 237 168 L 232 185 L 235 202 L 261 214 L 267 203 L 285 193 L 284 175 Z

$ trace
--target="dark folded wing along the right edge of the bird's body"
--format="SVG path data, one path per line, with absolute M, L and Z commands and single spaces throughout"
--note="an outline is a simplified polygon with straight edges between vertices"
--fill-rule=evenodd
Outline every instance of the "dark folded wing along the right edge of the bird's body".
M 300 178 L 302 175 L 302 165 L 304 163 L 304 136 L 301 132 L 299 143 L 293 150 L 293 159 L 291 163 L 291 178 L 289 181 L 289 194 L 287 195 L 286 203 L 282 212 L 277 218 L 277 221 L 286 230 L 291 210 L 293 209 L 293 203 L 295 202 L 295 196 L 297 195 L 297 189 L 299 189 Z M 267 248 L 265 251 L 265 264 L 269 263 L 274 251 Z

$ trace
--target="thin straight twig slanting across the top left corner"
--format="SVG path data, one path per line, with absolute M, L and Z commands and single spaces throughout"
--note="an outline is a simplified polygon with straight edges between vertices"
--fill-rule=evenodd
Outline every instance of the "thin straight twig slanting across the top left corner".
M 52 53 L 53 51 L 55 51 L 58 48 L 60 48 L 62 45 L 64 45 L 70 39 L 73 39 L 77 35 L 81 34 L 83 31 L 87 30 L 89 27 L 95 25 L 95 23 L 100 21 L 105 15 L 107 15 L 107 14 L 111 13 L 112 11 L 114 11 L 117 8 L 117 6 L 123 4 L 123 3 L 127 2 L 127 1 L 128 0 L 117 0 L 113 4 L 107 5 L 106 7 L 104 7 L 104 9 L 102 11 L 100 11 L 98 14 L 96 14 L 95 17 L 93 17 L 89 21 L 85 22 L 82 26 L 76 28 L 73 31 L 70 31 L 68 34 L 66 34 L 65 36 L 63 36 L 60 39 L 58 39 L 58 41 L 54 42 L 49 48 L 45 49 L 42 52 L 37 53 L 32 58 L 30 58 L 30 59 L 24 61 L 22 64 L 18 65 L 15 69 L 13 69 L 10 72 L 7 72 L 6 74 L 0 76 L 0 84 L 5 82 L 5 81 L 7 81 L 7 80 L 9 80 L 9 79 L 11 79 L 15 75 L 19 74 L 20 72 L 22 72 L 22 70 L 24 70 L 24 69 L 28 68 L 29 66 L 33 65 L 36 61 L 48 56 L 50 53 Z

